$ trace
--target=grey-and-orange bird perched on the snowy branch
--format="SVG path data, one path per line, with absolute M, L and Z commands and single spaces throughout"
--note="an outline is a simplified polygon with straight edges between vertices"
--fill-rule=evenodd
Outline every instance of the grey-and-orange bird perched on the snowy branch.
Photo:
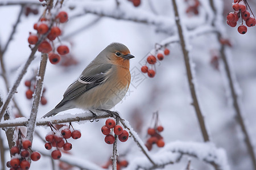
M 106 46 L 67 88 L 60 103 L 43 118 L 73 108 L 89 110 L 93 114 L 100 114 L 99 109 L 112 109 L 129 88 L 131 58 L 134 56 L 130 50 L 119 42 Z

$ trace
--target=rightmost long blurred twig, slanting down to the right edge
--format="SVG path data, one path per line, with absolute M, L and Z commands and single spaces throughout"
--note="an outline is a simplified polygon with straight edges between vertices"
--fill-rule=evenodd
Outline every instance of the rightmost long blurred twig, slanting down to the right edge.
M 213 0 L 209 0 L 209 1 L 210 1 L 210 7 L 212 8 L 212 10 L 214 12 L 214 16 L 216 16 L 217 11 L 216 11 L 216 8 L 214 6 L 214 2 L 213 2 Z M 213 27 L 216 27 L 215 22 L 214 22 L 215 20 L 216 20 L 216 18 L 214 18 L 213 22 L 212 22 Z M 217 31 L 217 37 L 218 37 L 218 40 L 220 41 L 220 39 L 222 37 L 220 31 Z M 251 143 L 250 135 L 247 131 L 245 122 L 243 120 L 241 106 L 238 102 L 238 100 L 240 100 L 240 96 L 238 95 L 238 92 L 236 91 L 236 88 L 234 88 L 234 82 L 236 82 L 236 77 L 235 76 L 232 77 L 232 70 L 229 67 L 229 61 L 228 61 L 227 56 L 225 54 L 225 47 L 226 46 L 224 44 L 221 44 L 220 54 L 221 54 L 222 61 L 224 63 L 226 76 L 228 78 L 228 83 L 229 83 L 229 87 L 230 87 L 230 91 L 231 91 L 231 95 L 232 95 L 232 99 L 233 99 L 233 107 L 234 107 L 234 109 L 236 111 L 236 114 L 237 114 L 238 124 L 241 126 L 241 130 L 242 130 L 243 135 L 245 135 L 245 143 L 246 143 L 247 151 L 250 154 L 251 162 L 253 163 L 254 170 L 256 170 L 256 156 L 255 156 L 255 152 L 254 152 L 254 147 Z M 235 74 L 233 74 L 233 75 L 235 75 Z

